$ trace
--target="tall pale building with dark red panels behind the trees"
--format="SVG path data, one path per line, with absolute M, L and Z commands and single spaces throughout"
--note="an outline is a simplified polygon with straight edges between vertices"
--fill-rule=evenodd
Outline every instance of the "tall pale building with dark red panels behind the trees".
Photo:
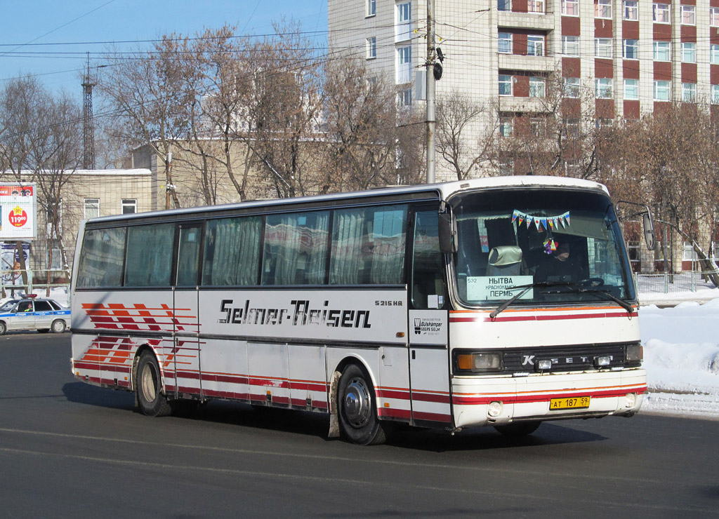
M 565 110 L 593 111 L 597 126 L 672 102 L 719 109 L 719 0 L 435 0 L 435 9 L 446 57 L 437 98 L 490 100 L 500 134 L 546 111 L 550 80 Z M 363 55 L 398 85 L 398 105 L 423 110 L 426 0 L 329 0 L 328 11 L 330 52 Z

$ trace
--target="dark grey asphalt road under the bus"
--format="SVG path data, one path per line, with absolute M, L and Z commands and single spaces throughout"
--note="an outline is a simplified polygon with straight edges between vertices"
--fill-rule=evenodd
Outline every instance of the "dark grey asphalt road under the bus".
M 70 335 L 0 337 L 0 517 L 717 518 L 719 421 L 638 415 L 326 438 L 323 416 L 211 403 L 152 419 L 70 375 Z

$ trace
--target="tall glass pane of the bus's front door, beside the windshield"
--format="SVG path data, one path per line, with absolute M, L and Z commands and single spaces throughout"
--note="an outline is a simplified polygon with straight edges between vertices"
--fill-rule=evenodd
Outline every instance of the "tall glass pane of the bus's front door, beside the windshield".
M 412 306 L 446 308 L 444 256 L 439 251 L 436 210 L 417 212 L 412 256 Z

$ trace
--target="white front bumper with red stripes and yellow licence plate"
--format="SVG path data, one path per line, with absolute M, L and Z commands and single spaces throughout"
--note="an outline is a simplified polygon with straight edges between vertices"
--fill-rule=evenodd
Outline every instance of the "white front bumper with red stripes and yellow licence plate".
M 525 377 L 454 377 L 454 426 L 514 421 L 632 416 L 646 393 L 646 371 L 552 373 Z

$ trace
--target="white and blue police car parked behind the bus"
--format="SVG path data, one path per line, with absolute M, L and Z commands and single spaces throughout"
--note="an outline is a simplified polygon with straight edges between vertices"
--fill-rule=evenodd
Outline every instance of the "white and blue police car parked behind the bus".
M 37 329 L 62 333 L 70 327 L 70 309 L 54 299 L 24 298 L 0 306 L 0 335 L 9 330 Z

